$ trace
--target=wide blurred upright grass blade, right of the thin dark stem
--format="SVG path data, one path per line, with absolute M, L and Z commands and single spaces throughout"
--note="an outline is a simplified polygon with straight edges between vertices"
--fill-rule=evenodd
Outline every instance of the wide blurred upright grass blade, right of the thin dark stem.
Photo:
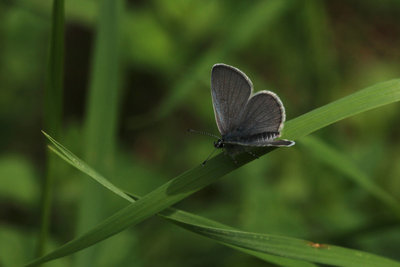
M 121 0 L 98 1 L 91 80 L 85 118 L 85 158 L 97 170 L 111 174 L 119 106 L 119 18 Z M 87 181 L 84 181 L 87 182 Z M 90 182 L 84 183 L 79 205 L 77 233 L 81 234 L 103 218 L 106 201 L 103 192 Z M 77 255 L 75 266 L 89 266 L 98 258 L 98 247 Z

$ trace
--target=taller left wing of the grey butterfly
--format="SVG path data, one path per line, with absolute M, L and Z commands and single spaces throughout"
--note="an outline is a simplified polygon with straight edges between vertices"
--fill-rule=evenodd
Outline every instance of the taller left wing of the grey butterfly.
M 239 126 L 252 91 L 250 79 L 239 69 L 225 64 L 213 66 L 211 95 L 215 121 L 222 136 Z

